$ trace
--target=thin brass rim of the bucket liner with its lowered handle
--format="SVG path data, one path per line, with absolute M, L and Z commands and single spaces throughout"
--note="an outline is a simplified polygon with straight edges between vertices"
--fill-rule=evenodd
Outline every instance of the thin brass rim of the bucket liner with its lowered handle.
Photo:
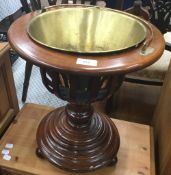
M 54 8 L 54 7 L 57 7 L 57 8 Z M 52 8 L 52 10 L 51 10 Z M 113 11 L 113 12 L 116 12 L 116 13 L 120 13 L 120 14 L 124 14 L 127 18 L 130 18 L 131 20 L 132 19 L 135 19 L 142 27 L 143 27 L 143 30 L 145 31 L 145 36 L 144 36 L 144 39 L 142 39 L 141 41 L 138 41 L 137 43 L 134 43 L 132 44 L 132 46 L 129 46 L 129 47 L 125 47 L 125 48 L 121 48 L 121 49 L 117 49 L 117 50 L 104 50 L 104 51 L 79 51 L 79 50 L 68 50 L 68 49 L 64 49 L 64 48 L 57 48 L 57 47 L 53 47 L 53 46 L 49 46 L 48 44 L 45 44 L 39 40 L 37 40 L 35 37 L 32 36 L 31 32 L 29 31 L 29 27 L 31 26 L 31 24 L 37 19 L 37 18 L 40 18 L 41 16 L 43 15 L 46 15 L 47 13 L 53 13 L 54 11 L 59 11 L 59 10 L 64 10 L 66 11 L 67 9 L 72 9 L 72 8 L 81 8 L 81 9 L 85 9 L 85 8 L 95 8 L 95 9 L 100 9 L 100 10 L 105 10 L 105 11 Z M 45 11 L 44 11 L 45 10 Z M 47 10 L 47 11 L 46 11 Z M 85 5 L 85 4 L 82 4 L 81 6 L 79 4 L 74 4 L 73 5 L 69 5 L 69 4 L 61 4 L 61 5 L 54 5 L 54 6 L 50 6 L 50 7 L 47 7 L 43 10 L 38 10 L 40 11 L 38 15 L 34 16 L 30 21 L 29 23 L 27 24 L 27 27 L 26 27 L 26 31 L 29 35 L 29 37 L 37 42 L 38 44 L 42 45 L 42 46 L 46 46 L 47 48 L 49 49 L 54 49 L 54 50 L 57 50 L 57 51 L 63 51 L 63 52 L 68 52 L 68 53 L 78 53 L 78 54 L 106 54 L 106 53 L 117 53 L 117 52 L 122 52 L 122 51 L 125 51 L 125 50 L 129 50 L 131 48 L 137 48 L 139 45 L 141 45 L 143 43 L 146 44 L 147 42 L 147 36 L 148 36 L 148 31 L 150 31 L 151 33 L 151 38 L 153 37 L 153 33 L 152 33 L 152 30 L 151 30 L 151 27 L 148 25 L 148 23 L 143 20 L 142 18 L 140 17 L 137 17 L 133 14 L 130 14 L 130 13 L 127 13 L 127 12 L 124 12 L 124 11 L 120 11 L 120 10 L 115 10 L 115 9 L 110 9 L 110 8 L 106 8 L 106 7 L 99 7 L 99 6 L 93 6 L 93 5 Z M 43 11 L 43 12 L 42 12 Z M 148 28 L 148 29 L 147 29 Z

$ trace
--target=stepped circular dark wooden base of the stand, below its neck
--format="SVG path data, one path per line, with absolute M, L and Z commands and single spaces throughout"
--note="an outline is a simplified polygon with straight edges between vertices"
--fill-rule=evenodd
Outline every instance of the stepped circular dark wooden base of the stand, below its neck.
M 114 123 L 94 112 L 87 125 L 73 125 L 60 108 L 47 114 L 37 130 L 39 153 L 54 165 L 86 172 L 116 162 L 120 138 Z

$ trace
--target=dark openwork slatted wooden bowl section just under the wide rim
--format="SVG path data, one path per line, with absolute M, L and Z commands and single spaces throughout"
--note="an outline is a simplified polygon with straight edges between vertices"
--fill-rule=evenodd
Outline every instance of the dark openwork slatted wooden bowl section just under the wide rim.
M 86 76 L 69 75 L 41 68 L 46 88 L 63 100 L 77 104 L 102 100 L 115 92 L 123 81 L 123 75 Z

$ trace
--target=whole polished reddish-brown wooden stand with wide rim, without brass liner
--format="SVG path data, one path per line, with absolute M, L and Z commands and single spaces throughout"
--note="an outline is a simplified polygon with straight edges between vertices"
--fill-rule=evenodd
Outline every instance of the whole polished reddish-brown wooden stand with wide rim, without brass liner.
M 63 5 L 50 10 L 63 7 L 86 8 Z M 102 54 L 59 51 L 38 44 L 28 35 L 28 23 L 37 13 L 22 16 L 12 24 L 8 32 L 10 44 L 22 58 L 40 67 L 42 81 L 50 92 L 69 102 L 41 121 L 37 152 L 54 165 L 75 172 L 115 163 L 120 144 L 117 128 L 106 115 L 95 111 L 91 103 L 114 93 L 126 73 L 155 62 L 164 50 L 161 33 L 130 15 L 147 29 L 145 40 L 138 46 Z

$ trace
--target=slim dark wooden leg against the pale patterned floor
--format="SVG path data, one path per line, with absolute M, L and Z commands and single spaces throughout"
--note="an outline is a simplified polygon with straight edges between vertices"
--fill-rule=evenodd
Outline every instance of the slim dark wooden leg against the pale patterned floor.
M 26 67 L 25 67 L 25 79 L 23 84 L 22 102 L 25 102 L 27 98 L 27 91 L 28 91 L 32 67 L 33 67 L 33 64 L 27 61 Z

